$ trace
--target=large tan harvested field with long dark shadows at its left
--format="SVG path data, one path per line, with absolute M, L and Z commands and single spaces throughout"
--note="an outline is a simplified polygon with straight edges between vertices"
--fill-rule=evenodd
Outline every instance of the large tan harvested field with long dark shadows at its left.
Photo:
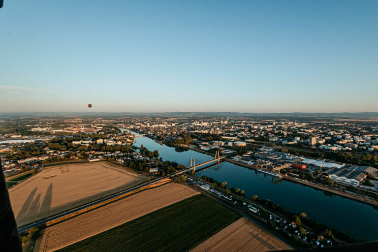
M 49 167 L 9 189 L 22 226 L 145 182 L 145 176 L 108 163 Z

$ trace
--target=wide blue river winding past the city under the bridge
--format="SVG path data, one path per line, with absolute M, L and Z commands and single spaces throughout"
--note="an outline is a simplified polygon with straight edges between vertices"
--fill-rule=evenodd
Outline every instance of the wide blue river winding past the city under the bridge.
M 158 150 L 163 161 L 176 161 L 189 166 L 190 158 L 195 158 L 196 163 L 213 158 L 192 150 L 176 152 L 174 148 L 160 145 L 148 137 L 135 138 L 135 141 L 135 146 L 143 144 L 150 151 Z M 249 197 L 256 194 L 290 212 L 306 213 L 308 218 L 353 237 L 366 241 L 378 240 L 378 210 L 370 205 L 289 181 L 275 184 L 271 176 L 230 162 L 221 163 L 219 170 L 212 167 L 196 173 L 198 177 L 203 175 L 226 181 L 227 186 L 242 189 Z

